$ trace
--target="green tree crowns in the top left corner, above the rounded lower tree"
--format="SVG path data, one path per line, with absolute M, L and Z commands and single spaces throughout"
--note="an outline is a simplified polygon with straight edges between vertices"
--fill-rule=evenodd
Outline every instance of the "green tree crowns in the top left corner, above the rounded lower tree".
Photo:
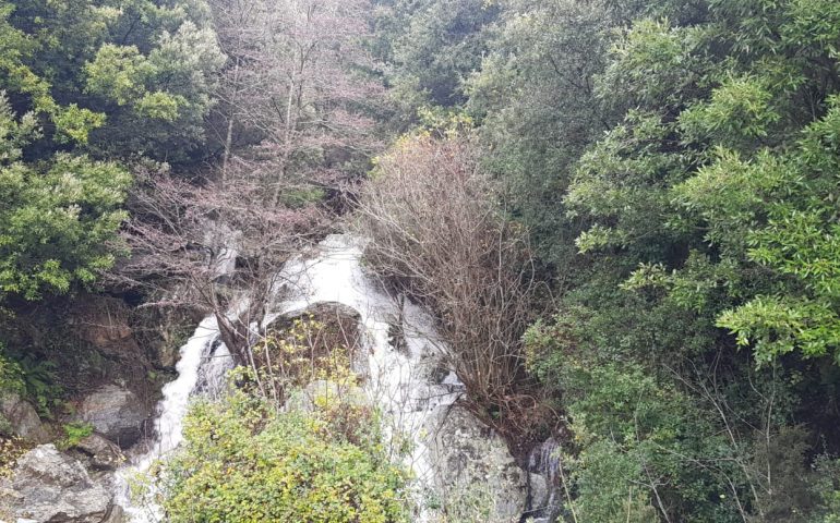
M 109 157 L 176 148 L 185 159 L 203 143 L 225 61 L 204 1 L 0 7 L 0 88 L 25 97 L 20 112 L 50 119 L 40 155 L 70 145 Z

